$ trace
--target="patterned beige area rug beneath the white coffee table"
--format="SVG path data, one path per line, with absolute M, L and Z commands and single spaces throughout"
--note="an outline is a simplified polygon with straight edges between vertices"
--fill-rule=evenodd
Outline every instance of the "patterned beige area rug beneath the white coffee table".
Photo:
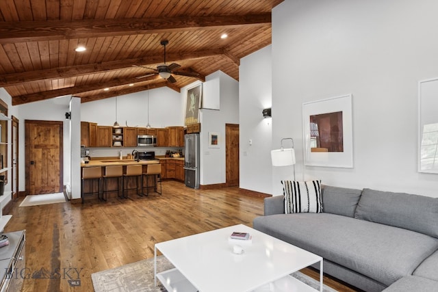
M 173 265 L 164 256 L 157 256 L 157 266 L 160 271 L 172 269 Z M 130 263 L 114 269 L 98 271 L 91 274 L 95 292 L 165 292 L 162 284 L 157 281 L 154 287 L 153 258 L 136 263 Z M 320 282 L 297 271 L 292 274 L 298 280 L 305 282 L 314 289 L 320 290 Z M 170 291 L 172 292 L 172 291 Z M 324 285 L 324 292 L 336 292 L 336 290 Z

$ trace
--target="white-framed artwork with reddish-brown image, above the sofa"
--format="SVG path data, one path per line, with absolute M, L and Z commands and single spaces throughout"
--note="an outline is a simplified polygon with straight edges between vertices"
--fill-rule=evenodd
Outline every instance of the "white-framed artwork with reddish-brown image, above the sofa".
M 305 165 L 353 167 L 352 95 L 302 104 Z

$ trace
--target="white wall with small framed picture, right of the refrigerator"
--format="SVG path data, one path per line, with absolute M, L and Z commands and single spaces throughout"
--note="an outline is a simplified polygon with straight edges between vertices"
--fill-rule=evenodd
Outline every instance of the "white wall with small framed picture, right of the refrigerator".
M 181 88 L 184 101 L 187 90 L 198 83 Z M 218 110 L 200 109 L 200 183 L 215 185 L 226 182 L 225 124 L 239 124 L 239 83 L 222 71 L 214 72 L 205 77 L 203 98 L 211 101 L 209 104 L 220 103 Z M 182 107 L 185 109 L 185 102 Z M 208 148 L 209 132 L 219 133 L 219 148 Z

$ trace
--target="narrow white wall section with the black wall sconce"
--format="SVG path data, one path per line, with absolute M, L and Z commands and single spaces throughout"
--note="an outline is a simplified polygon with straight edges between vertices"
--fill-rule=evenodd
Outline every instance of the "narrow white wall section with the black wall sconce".
M 271 55 L 271 46 L 252 53 L 239 70 L 240 187 L 265 194 L 272 192 L 272 119 L 261 111 L 272 106 Z

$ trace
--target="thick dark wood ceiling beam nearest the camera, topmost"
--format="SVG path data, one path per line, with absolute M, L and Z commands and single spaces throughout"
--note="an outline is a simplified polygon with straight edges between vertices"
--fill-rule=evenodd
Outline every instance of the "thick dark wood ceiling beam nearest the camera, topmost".
M 170 18 L 125 18 L 81 21 L 7 21 L 0 23 L 0 43 L 35 42 L 40 40 L 64 40 L 151 34 L 167 31 L 187 31 L 202 27 L 240 27 L 242 25 L 266 25 L 271 14 L 242 16 L 179 16 Z

